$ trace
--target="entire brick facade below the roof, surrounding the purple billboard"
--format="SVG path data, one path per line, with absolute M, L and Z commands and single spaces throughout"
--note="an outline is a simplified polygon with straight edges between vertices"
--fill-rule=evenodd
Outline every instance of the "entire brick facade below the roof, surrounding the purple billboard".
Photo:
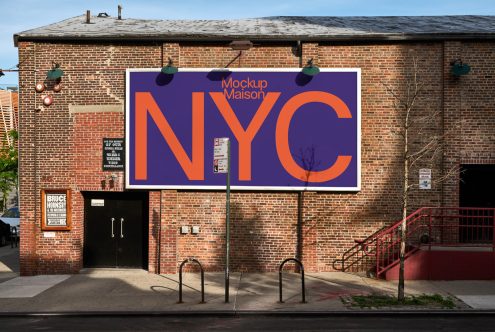
M 274 271 L 283 258 L 294 257 L 299 212 L 302 259 L 309 271 L 332 270 L 333 261 L 355 238 L 400 218 L 402 141 L 395 131 L 403 117 L 387 87 L 405 95 L 413 59 L 424 89 L 414 113 L 420 125 L 412 150 L 449 132 L 444 128 L 462 130 L 450 130 L 439 157 L 415 165 L 411 183 L 417 183 L 421 167 L 432 168 L 435 179 L 460 163 L 495 163 L 494 49 L 488 42 L 303 43 L 303 64 L 314 58 L 321 67 L 362 70 L 362 190 L 304 192 L 302 211 L 297 193 L 233 192 L 232 270 Z M 81 192 L 123 190 L 123 172 L 116 172 L 119 180 L 113 188 L 102 186 L 108 172 L 101 171 L 101 142 L 124 136 L 123 113 L 105 110 L 123 107 L 125 68 L 158 68 L 169 56 L 181 67 L 298 67 L 300 62 L 295 44 L 260 44 L 236 58 L 238 54 L 211 43 L 19 43 L 22 274 L 77 272 L 84 246 Z M 453 79 L 448 72 L 455 58 L 469 63 L 472 72 Z M 52 61 L 65 71 L 63 89 L 53 93 L 52 106 L 36 112 L 41 97 L 34 85 Z M 73 111 L 80 106 L 93 111 Z M 431 114 L 436 116 L 422 120 Z M 455 175 L 432 190 L 412 190 L 410 210 L 457 205 L 458 181 Z M 54 239 L 44 238 L 40 229 L 39 192 L 49 188 L 70 188 L 73 197 L 73 228 L 57 232 Z M 150 272 L 174 273 L 191 256 L 208 271 L 223 269 L 223 192 L 164 190 L 150 192 L 149 201 Z M 199 226 L 200 233 L 181 235 L 182 225 Z

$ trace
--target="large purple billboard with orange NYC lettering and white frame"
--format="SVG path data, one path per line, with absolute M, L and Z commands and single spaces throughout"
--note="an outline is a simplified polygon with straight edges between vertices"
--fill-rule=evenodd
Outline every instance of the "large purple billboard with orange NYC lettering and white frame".
M 360 190 L 360 69 L 160 69 L 126 73 L 126 188 Z

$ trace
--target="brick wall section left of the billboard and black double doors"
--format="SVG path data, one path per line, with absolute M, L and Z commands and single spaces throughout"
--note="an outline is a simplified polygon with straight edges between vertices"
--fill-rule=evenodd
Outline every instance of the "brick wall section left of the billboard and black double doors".
M 122 190 L 102 188 L 108 175 L 101 171 L 103 137 L 123 137 L 122 105 L 125 68 L 159 67 L 161 45 L 88 45 L 19 43 L 20 59 L 20 208 L 21 274 L 73 273 L 83 266 L 83 215 L 81 191 Z M 65 74 L 62 91 L 36 93 L 53 62 Z M 41 111 L 41 96 L 54 103 Z M 119 112 L 71 112 L 73 105 L 120 106 Z M 72 230 L 45 238 L 41 232 L 40 190 L 69 188 L 72 192 Z

